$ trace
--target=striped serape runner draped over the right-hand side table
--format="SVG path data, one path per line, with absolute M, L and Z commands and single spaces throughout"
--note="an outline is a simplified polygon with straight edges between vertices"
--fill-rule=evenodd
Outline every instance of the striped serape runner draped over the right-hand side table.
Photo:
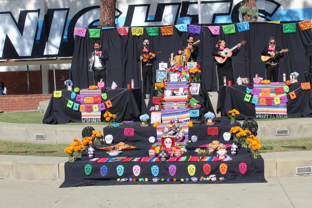
M 268 118 L 268 117 L 287 117 L 287 103 L 283 103 L 281 100 L 281 96 L 285 95 L 286 92 L 284 91 L 283 94 L 276 95 L 275 89 L 279 87 L 284 87 L 285 83 L 280 82 L 273 82 L 270 84 L 254 84 L 255 88 L 260 89 L 260 96 L 256 95 L 258 97 L 258 102 L 255 104 L 255 110 L 256 110 L 256 118 Z M 262 96 L 261 95 L 261 89 L 270 89 L 270 96 Z M 274 103 L 274 98 L 279 97 L 280 98 L 280 104 Z M 260 105 L 260 98 L 271 98 L 272 105 Z

